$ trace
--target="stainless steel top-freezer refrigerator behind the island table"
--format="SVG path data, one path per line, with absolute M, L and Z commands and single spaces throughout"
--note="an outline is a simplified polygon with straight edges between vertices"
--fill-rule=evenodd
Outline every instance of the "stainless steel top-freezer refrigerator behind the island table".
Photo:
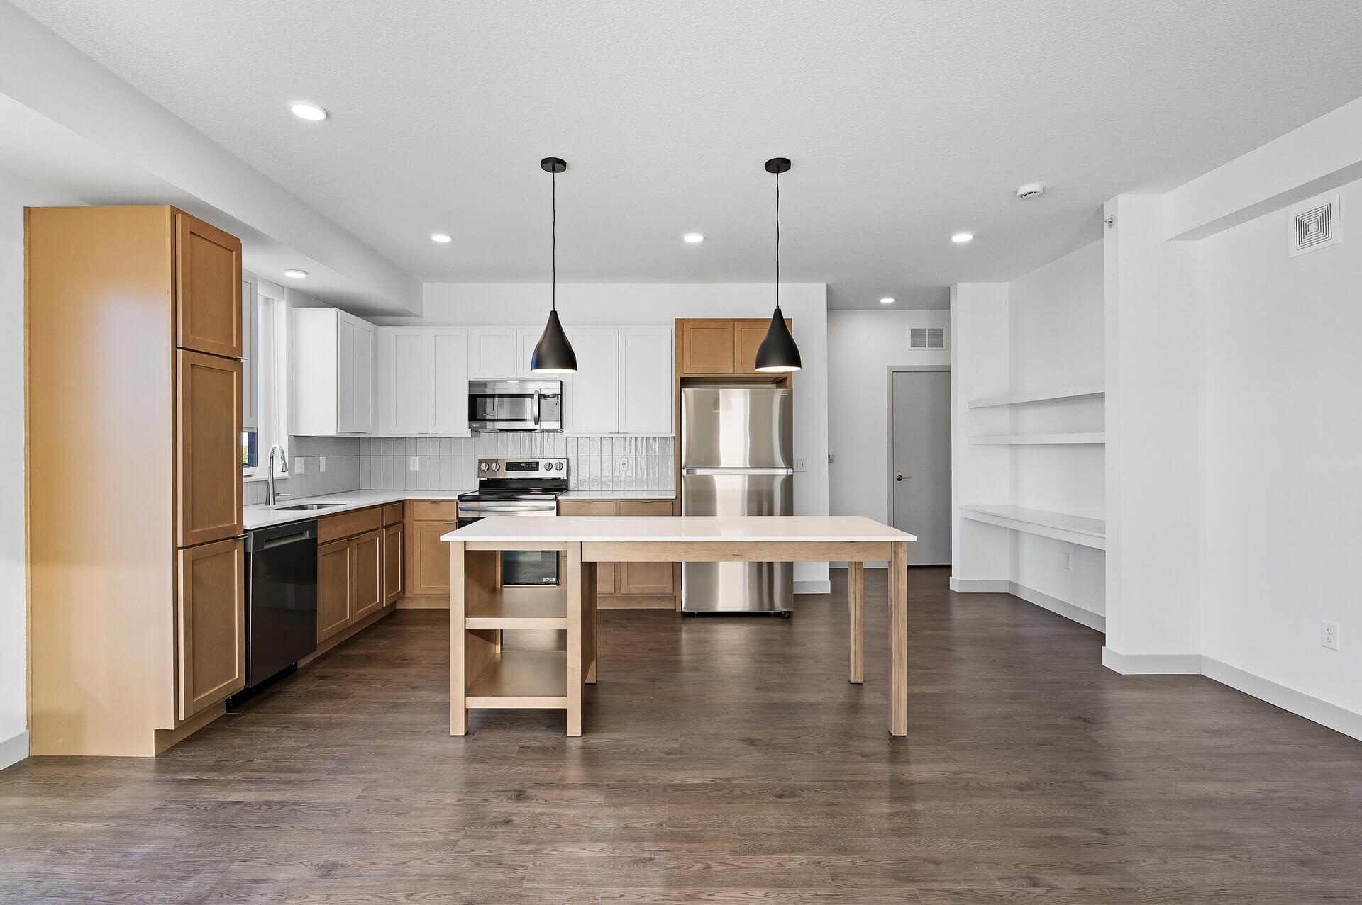
M 789 516 L 794 510 L 793 403 L 772 386 L 681 391 L 681 514 Z M 794 608 L 789 562 L 686 562 L 685 612 Z

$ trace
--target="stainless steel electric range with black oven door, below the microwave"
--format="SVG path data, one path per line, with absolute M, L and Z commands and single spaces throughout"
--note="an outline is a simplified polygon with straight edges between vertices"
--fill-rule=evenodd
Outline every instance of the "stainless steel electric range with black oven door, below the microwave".
M 567 459 L 479 459 L 478 489 L 459 494 L 459 527 L 488 516 L 556 516 L 567 489 Z M 558 553 L 507 550 L 501 584 L 558 584 Z

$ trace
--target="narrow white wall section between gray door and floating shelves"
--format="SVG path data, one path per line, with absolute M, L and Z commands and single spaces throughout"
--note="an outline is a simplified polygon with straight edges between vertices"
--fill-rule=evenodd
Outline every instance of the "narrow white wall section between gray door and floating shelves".
M 971 399 L 1009 389 L 1007 283 L 951 289 L 951 589 L 1007 592 L 1012 573 L 1011 531 L 960 517 L 962 505 L 1012 498 L 1008 446 L 971 445 L 971 434 L 1007 434 L 1007 408 L 970 408 Z

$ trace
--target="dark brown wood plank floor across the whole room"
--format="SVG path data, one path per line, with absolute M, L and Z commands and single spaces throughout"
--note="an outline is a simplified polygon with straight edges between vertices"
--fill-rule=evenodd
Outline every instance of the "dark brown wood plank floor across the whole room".
M 601 614 L 586 734 L 448 736 L 448 622 L 403 611 L 155 761 L 0 773 L 4 902 L 1320 902 L 1362 897 L 1362 743 L 911 573 L 911 723 L 846 615 Z

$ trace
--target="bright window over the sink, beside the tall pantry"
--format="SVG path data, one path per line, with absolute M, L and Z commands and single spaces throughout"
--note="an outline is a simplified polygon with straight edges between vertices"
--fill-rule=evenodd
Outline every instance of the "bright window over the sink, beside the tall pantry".
M 247 286 L 253 303 L 247 305 Z M 287 325 L 283 287 L 268 280 L 242 283 L 242 426 L 241 474 L 245 480 L 264 480 L 268 450 L 278 444 L 287 452 Z M 287 478 L 275 459 L 274 476 Z

